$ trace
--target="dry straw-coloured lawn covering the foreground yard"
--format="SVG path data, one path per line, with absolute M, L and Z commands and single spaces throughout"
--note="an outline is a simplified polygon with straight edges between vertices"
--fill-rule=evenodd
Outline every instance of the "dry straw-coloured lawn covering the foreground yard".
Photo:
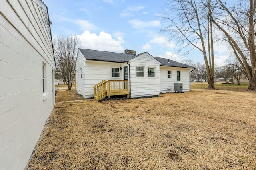
M 26 170 L 256 169 L 254 93 L 162 96 L 65 103 L 49 117 Z

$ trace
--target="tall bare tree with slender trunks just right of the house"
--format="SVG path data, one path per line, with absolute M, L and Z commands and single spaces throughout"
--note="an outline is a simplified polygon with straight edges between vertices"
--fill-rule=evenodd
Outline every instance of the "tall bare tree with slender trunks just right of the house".
M 208 88 L 214 89 L 213 25 L 209 20 L 214 7 L 211 0 L 207 0 L 207 4 L 203 3 L 197 0 L 167 0 L 167 9 L 160 16 L 166 25 L 160 32 L 167 34 L 170 41 L 180 44 L 178 52 L 188 46 L 202 52 L 209 81 Z

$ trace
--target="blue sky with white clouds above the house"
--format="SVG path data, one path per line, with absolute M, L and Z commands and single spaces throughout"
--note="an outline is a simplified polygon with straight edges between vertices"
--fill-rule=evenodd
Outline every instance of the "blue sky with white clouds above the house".
M 52 21 L 52 36 L 77 35 L 83 48 L 124 53 L 147 51 L 152 56 L 181 62 L 204 63 L 202 53 L 176 54 L 176 45 L 158 33 L 164 0 L 43 0 Z M 223 53 L 223 54 L 222 54 Z M 226 62 L 225 49 L 216 51 L 215 62 Z

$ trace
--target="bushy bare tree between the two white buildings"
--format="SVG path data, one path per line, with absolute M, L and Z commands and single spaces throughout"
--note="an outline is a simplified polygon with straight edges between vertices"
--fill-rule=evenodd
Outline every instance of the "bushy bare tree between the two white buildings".
M 66 82 L 68 90 L 71 90 L 75 82 L 76 55 L 80 46 L 81 43 L 78 37 L 75 36 L 58 36 L 54 40 L 56 72 L 58 72 Z

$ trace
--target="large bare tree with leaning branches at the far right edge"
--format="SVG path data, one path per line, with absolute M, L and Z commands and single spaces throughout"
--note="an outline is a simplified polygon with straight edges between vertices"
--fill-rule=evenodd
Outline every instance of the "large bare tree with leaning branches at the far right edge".
M 224 33 L 223 39 L 232 47 L 248 77 L 248 89 L 256 90 L 256 0 L 240 0 L 234 6 L 228 6 L 226 1 L 217 0 L 215 6 L 221 15 L 210 15 L 210 19 Z

